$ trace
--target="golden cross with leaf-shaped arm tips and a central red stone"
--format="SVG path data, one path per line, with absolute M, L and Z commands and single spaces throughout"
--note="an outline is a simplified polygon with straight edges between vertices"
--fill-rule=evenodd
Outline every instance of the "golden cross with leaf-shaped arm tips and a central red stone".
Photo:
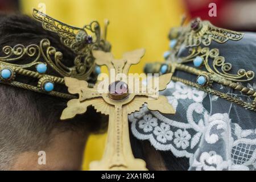
M 155 97 L 156 92 L 166 89 L 167 84 L 171 81 L 171 73 L 160 76 L 158 85 L 154 84 L 150 89 L 143 89 L 141 80 L 139 84 L 131 81 L 138 76 L 129 75 L 129 79 L 125 80 L 124 77 L 127 76 L 131 65 L 139 63 L 144 53 L 144 49 L 137 49 L 125 53 L 122 59 L 115 60 L 112 53 L 93 51 L 96 64 L 106 65 L 109 73 L 114 71 L 115 80 L 110 82 L 108 89 L 104 89 L 105 92 L 99 89 L 101 88 L 99 85 L 102 83 L 100 81 L 94 88 L 88 88 L 86 81 L 65 77 L 65 84 L 68 86 L 69 92 L 79 94 L 79 98 L 68 102 L 68 107 L 64 109 L 61 119 L 69 119 L 77 114 L 83 114 L 88 106 L 93 106 L 98 112 L 109 115 L 108 139 L 104 156 L 100 161 L 92 162 L 90 170 L 147 170 L 146 163 L 133 156 L 129 139 L 128 114 L 139 111 L 143 104 L 147 104 L 150 110 L 158 110 L 166 114 L 175 113 L 165 96 Z M 120 74 L 122 76 L 118 76 Z M 152 80 L 154 79 L 152 78 Z M 110 80 L 106 78 L 104 81 L 109 82 Z M 136 88 L 138 92 L 134 92 Z

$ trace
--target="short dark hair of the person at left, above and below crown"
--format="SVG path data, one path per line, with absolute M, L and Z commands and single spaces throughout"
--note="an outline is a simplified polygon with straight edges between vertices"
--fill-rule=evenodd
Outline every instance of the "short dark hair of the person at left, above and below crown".
M 36 20 L 26 15 L 0 15 L 0 49 L 16 44 L 39 44 L 42 39 L 49 39 L 57 51 L 63 52 L 65 64 L 74 60 L 73 52 L 60 43 L 59 36 L 43 30 Z M 35 81 L 18 75 L 16 79 L 27 84 Z M 67 100 L 62 98 L 0 84 L 0 103 L 0 169 L 8 169 L 17 154 L 48 146 L 53 129 L 81 133 L 105 131 L 105 116 L 92 107 L 84 115 L 60 121 L 61 112 L 67 106 Z

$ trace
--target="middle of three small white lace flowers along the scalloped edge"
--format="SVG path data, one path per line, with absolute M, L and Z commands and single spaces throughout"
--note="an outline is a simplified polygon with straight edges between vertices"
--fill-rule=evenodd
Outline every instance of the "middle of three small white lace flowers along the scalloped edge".
M 166 123 L 161 123 L 160 127 L 156 126 L 154 134 L 157 136 L 156 139 L 159 142 L 166 143 L 167 140 L 172 140 L 174 133 L 170 130 L 170 125 Z

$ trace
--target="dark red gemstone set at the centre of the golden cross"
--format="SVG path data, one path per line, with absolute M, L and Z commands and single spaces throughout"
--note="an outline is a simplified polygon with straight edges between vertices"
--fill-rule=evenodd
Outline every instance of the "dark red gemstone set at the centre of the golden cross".
M 128 95 L 128 85 L 123 81 L 115 81 L 109 85 L 109 96 L 114 100 L 122 100 Z

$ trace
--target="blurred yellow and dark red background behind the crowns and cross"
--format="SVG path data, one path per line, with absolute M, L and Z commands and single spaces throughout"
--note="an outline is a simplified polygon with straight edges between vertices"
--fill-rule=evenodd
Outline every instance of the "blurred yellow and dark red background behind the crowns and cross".
M 216 5 L 216 17 L 209 16 L 210 3 Z M 121 57 L 125 51 L 146 48 L 146 56 L 131 68 L 131 73 L 141 73 L 143 65 L 150 61 L 164 60 L 168 31 L 180 25 L 183 14 L 188 20 L 200 16 L 219 27 L 256 31 L 256 1 L 250 0 L 0 0 L 3 13 L 31 15 L 33 7 L 77 27 L 91 20 L 98 20 L 103 27 L 104 20 L 109 19 L 108 40 L 115 57 Z M 101 159 L 105 139 L 106 134 L 90 136 L 84 170 L 92 160 Z

